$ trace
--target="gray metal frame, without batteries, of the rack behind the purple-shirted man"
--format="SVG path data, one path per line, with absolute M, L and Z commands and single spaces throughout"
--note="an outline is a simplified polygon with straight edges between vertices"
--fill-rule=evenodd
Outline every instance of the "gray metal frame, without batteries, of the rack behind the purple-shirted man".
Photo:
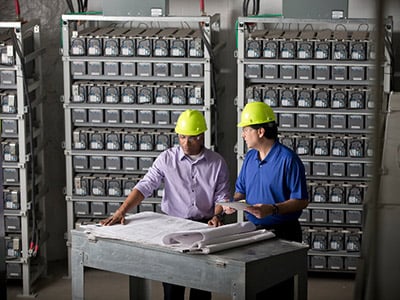
M 211 44 L 214 40 L 217 39 L 217 33 L 219 31 L 220 27 L 220 16 L 218 14 L 213 15 L 213 16 L 198 16 L 198 17 L 187 17 L 187 16 L 179 16 L 179 17 L 174 17 L 174 16 L 168 16 L 168 17 L 146 17 L 146 16 L 102 16 L 102 15 L 63 15 L 62 16 L 62 41 L 63 41 L 63 46 L 61 49 L 62 52 L 62 60 L 63 60 L 63 74 L 64 74 L 64 95 L 62 97 L 63 101 L 63 106 L 64 106 L 64 118 L 65 118 L 65 158 L 66 158 L 66 202 L 67 202 L 67 232 L 66 232 L 66 240 L 67 240 L 67 246 L 68 248 L 71 247 L 71 233 L 70 231 L 74 229 L 75 224 L 74 224 L 74 202 L 82 200 L 82 197 L 77 197 L 73 195 L 73 176 L 74 176 L 74 170 L 73 170 L 73 155 L 77 154 L 84 154 L 85 156 L 90 156 L 91 154 L 94 154 L 93 151 L 86 150 L 86 151 L 78 151 L 74 150 L 72 147 L 72 132 L 73 132 L 73 124 L 72 124 L 72 109 L 74 108 L 93 108 L 94 106 L 91 104 L 77 104 L 77 103 L 72 103 L 70 98 L 71 98 L 71 85 L 73 80 L 80 80 L 80 79 L 85 79 L 85 80 L 136 80 L 136 81 L 148 81 L 148 82 L 154 82 L 157 80 L 160 80 L 160 78 L 157 77 L 139 77 L 139 76 L 133 76 L 133 77 L 125 77 L 125 76 L 115 76 L 115 77 L 107 77 L 107 76 L 99 76 L 99 77 L 93 77 L 93 76 L 72 76 L 71 74 L 71 62 L 75 61 L 91 61 L 91 60 L 96 60 L 96 61 L 102 61 L 102 62 L 124 62 L 124 61 L 129 61 L 129 62 L 185 62 L 185 63 L 200 63 L 204 66 L 204 76 L 202 78 L 190 78 L 188 80 L 187 78 L 185 79 L 186 81 L 191 81 L 191 82 L 201 82 L 204 85 L 204 103 L 203 105 L 197 105 L 197 106 L 190 106 L 190 105 L 144 105 L 140 104 L 140 109 L 147 109 L 147 110 L 167 110 L 167 111 L 172 111 L 172 110 L 185 110 L 185 109 L 197 109 L 202 112 L 204 112 L 204 116 L 206 119 L 206 122 L 209 126 L 209 130 L 205 133 L 205 146 L 214 149 L 216 145 L 213 143 L 216 143 L 215 140 L 212 139 L 213 133 L 211 128 L 214 127 L 214 114 L 215 114 L 215 109 L 214 109 L 214 99 L 211 97 L 211 92 L 212 92 L 212 81 L 211 81 L 211 71 L 212 71 L 212 65 L 211 65 L 211 55 L 208 52 L 207 48 L 204 47 L 204 57 L 203 58 L 173 58 L 173 57 L 166 57 L 166 58 L 157 58 L 157 57 L 148 57 L 148 58 L 143 58 L 143 57 L 89 57 L 89 56 L 70 56 L 70 39 L 72 35 L 72 29 L 71 29 L 71 24 L 76 24 L 75 22 L 81 22 L 81 24 L 95 24 L 95 26 L 98 27 L 103 27 L 103 26 L 111 26 L 112 24 L 117 24 L 117 26 L 124 26 L 124 27 L 131 27 L 133 28 L 133 25 L 139 26 L 140 24 L 150 24 L 150 25 L 156 25 L 156 27 L 186 27 L 188 24 L 196 24 L 198 26 L 199 23 L 204 24 L 204 32 L 205 32 L 205 37 Z M 139 24 L 139 25 L 138 25 Z M 151 27 L 151 26 L 150 26 Z M 217 47 L 218 45 L 212 45 L 213 47 Z M 180 78 L 170 78 L 170 82 L 180 82 L 183 79 Z M 101 108 L 101 105 L 96 105 L 96 108 Z M 126 109 L 126 108 L 133 108 L 132 105 L 127 105 L 127 104 L 113 104 L 112 106 L 108 105 L 107 108 L 112 108 L 112 109 Z M 90 125 L 90 124 L 89 124 Z M 95 124 L 91 124 L 92 126 L 96 127 Z M 82 126 L 85 126 L 83 124 Z M 143 126 L 143 125 L 132 125 L 132 128 L 148 128 L 148 129 L 156 129 L 156 125 L 151 125 L 151 126 Z M 112 127 L 112 126 L 111 126 Z M 113 156 L 132 156 L 132 157 L 156 157 L 158 156 L 159 152 L 143 152 L 143 151 L 135 151 L 132 154 L 126 153 L 126 152 L 113 152 Z M 97 155 L 104 156 L 106 157 L 108 154 L 110 154 L 107 151 L 102 151 L 101 153 L 96 153 Z M 120 174 L 126 174 L 121 171 Z M 132 172 L 132 174 L 134 174 Z M 139 172 L 140 174 L 140 172 Z M 92 197 L 93 198 L 93 197 Z M 95 199 L 90 199 L 90 197 L 86 198 L 90 202 L 92 201 L 103 201 L 105 200 L 106 202 L 111 201 L 111 202 L 123 202 L 125 199 L 124 197 L 118 197 L 114 199 L 110 199 L 107 197 L 98 197 Z M 160 199 L 159 198 L 149 198 L 146 199 L 150 201 L 150 203 L 159 203 Z M 70 250 L 70 249 L 69 249 Z M 71 255 L 70 251 L 68 251 L 68 257 L 69 261 L 71 261 Z

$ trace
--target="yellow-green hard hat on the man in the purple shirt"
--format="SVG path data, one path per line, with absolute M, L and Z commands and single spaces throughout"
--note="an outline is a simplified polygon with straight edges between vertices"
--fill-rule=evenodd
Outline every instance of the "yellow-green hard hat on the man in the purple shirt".
M 199 135 L 207 130 L 206 120 L 197 110 L 185 110 L 178 118 L 175 132 L 183 135 Z

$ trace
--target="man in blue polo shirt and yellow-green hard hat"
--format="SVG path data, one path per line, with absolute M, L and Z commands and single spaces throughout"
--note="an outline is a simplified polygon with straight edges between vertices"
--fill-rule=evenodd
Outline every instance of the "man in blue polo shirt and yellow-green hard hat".
M 236 180 L 234 200 L 246 199 L 251 205 L 245 209 L 246 217 L 258 227 L 301 242 L 298 218 L 308 205 L 303 163 L 278 141 L 275 114 L 267 104 L 248 103 L 238 127 L 249 151 Z M 258 294 L 257 299 L 293 299 L 293 279 Z

